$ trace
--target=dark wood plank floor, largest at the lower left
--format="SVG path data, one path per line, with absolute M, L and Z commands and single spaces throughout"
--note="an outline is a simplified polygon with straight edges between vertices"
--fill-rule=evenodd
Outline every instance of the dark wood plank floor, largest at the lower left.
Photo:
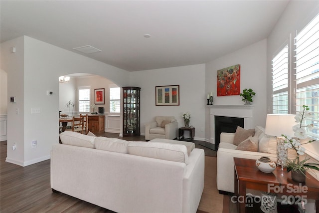
M 121 138 L 118 134 L 104 133 L 98 136 Z M 123 138 L 145 141 L 145 136 Z M 194 141 L 205 154 L 216 156 Z M 1 213 L 113 213 L 62 193 L 52 193 L 50 188 L 50 160 L 20 167 L 6 163 L 6 141 L 0 142 L 0 212 Z

